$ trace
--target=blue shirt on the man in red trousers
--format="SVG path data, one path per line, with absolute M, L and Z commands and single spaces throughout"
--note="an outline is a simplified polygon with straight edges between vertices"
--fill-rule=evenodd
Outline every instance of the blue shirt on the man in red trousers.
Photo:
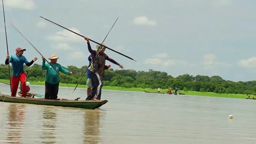
M 20 76 L 22 73 L 24 73 L 23 65 L 24 63 L 27 65 L 29 62 L 28 60 L 23 56 L 17 56 L 17 55 L 11 55 L 9 58 L 9 61 L 12 63 L 12 76 Z

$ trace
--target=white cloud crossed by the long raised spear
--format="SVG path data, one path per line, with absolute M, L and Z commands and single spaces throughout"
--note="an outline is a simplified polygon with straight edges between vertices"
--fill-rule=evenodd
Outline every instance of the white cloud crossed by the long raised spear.
M 70 28 L 70 30 L 79 34 L 79 30 L 77 30 L 76 28 Z M 47 39 L 50 39 L 55 42 L 83 42 L 83 38 L 77 36 L 71 31 L 68 31 L 66 29 L 61 30 L 54 35 L 50 35 Z

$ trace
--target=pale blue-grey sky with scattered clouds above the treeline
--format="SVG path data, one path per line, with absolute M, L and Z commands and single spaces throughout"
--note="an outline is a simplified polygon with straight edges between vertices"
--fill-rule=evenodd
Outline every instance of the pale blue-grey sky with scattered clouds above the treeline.
M 87 66 L 90 53 L 82 36 L 101 43 L 119 17 L 104 44 L 135 60 L 106 49 L 124 69 L 152 69 L 173 77 L 220 76 L 234 82 L 256 79 L 255 7 L 254 0 L 4 0 L 9 54 L 22 46 L 28 61 L 37 57 L 38 65 L 41 54 L 45 58 L 56 54 L 62 66 Z M 3 7 L 0 14 L 0 63 L 4 63 Z M 97 44 L 90 44 L 95 49 Z

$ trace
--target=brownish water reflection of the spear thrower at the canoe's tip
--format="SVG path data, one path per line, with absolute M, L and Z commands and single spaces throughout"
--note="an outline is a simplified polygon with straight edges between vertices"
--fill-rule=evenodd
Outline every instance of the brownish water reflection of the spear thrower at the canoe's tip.
M 100 140 L 100 110 L 85 110 L 83 143 L 97 144 Z

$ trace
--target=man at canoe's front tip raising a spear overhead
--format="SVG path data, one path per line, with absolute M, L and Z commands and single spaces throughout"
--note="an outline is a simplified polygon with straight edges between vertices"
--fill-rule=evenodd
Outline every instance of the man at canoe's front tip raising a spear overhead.
M 91 66 L 88 69 L 90 70 L 90 76 L 92 78 L 92 81 L 94 82 L 94 86 L 92 87 L 91 92 L 87 96 L 86 100 L 100 100 L 101 89 L 103 86 L 103 81 L 101 77 L 105 75 L 106 60 L 118 65 L 120 68 L 123 68 L 123 65 L 120 65 L 118 62 L 109 58 L 108 55 L 104 53 L 106 47 L 97 45 L 96 50 L 92 50 L 89 38 L 84 37 L 84 39 L 87 41 L 87 47 L 92 56 Z

